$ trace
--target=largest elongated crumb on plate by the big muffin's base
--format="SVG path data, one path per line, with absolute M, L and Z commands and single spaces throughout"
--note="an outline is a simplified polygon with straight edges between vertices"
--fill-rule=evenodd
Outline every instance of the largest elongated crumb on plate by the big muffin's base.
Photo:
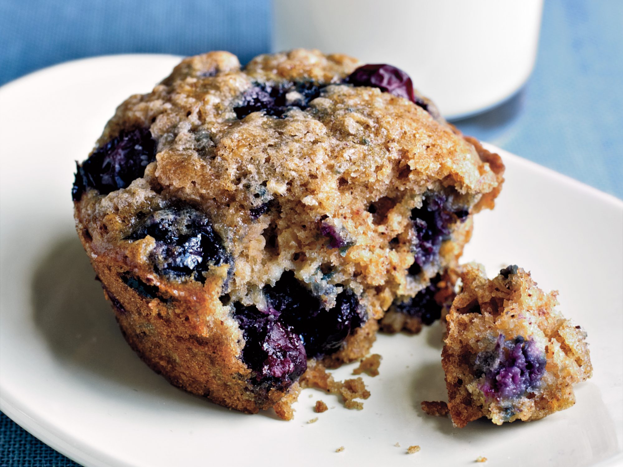
M 326 371 L 325 366 L 318 361 L 310 361 L 307 371 L 301 377 L 299 384 L 302 387 L 322 389 L 329 394 L 341 396 L 344 407 L 361 410 L 363 402 L 355 399 L 368 399 L 370 392 L 361 377 L 336 381 L 333 375 Z

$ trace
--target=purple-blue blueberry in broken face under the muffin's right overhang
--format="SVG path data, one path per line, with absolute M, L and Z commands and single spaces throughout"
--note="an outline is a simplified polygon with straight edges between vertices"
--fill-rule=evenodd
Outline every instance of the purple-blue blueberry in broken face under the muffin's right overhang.
M 411 210 L 416 242 L 413 245 L 415 262 L 409 268 L 411 275 L 417 275 L 424 265 L 437 257 L 441 242 L 449 238 L 450 226 L 457 217 L 444 207 L 443 196 L 429 196 L 422 207 Z

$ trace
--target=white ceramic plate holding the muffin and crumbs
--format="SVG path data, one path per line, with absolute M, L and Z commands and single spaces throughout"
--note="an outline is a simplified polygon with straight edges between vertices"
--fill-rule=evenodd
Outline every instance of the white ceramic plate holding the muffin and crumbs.
M 70 187 L 74 160 L 85 158 L 115 106 L 148 92 L 177 61 L 80 60 L 0 90 L 0 407 L 9 417 L 86 466 L 621 460 L 623 203 L 504 151 L 502 196 L 495 211 L 478 215 L 464 258 L 477 258 L 490 274 L 518 263 L 543 288 L 560 290 L 561 309 L 589 333 L 594 362 L 573 408 L 540 422 L 481 420 L 462 430 L 425 415 L 422 400 L 445 398 L 439 326 L 379 336 L 373 351 L 383 356 L 381 375 L 364 377 L 372 396 L 361 412 L 305 390 L 292 422 L 244 415 L 151 372 L 123 341 L 93 280 L 74 232 Z M 335 408 L 315 414 L 318 399 Z M 406 455 L 409 445 L 422 450 Z

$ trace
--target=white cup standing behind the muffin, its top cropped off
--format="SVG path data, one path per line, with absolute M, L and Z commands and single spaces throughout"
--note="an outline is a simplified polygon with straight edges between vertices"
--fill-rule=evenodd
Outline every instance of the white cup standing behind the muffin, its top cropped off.
M 543 0 L 273 0 L 272 44 L 402 68 L 456 119 L 526 82 L 542 9 Z

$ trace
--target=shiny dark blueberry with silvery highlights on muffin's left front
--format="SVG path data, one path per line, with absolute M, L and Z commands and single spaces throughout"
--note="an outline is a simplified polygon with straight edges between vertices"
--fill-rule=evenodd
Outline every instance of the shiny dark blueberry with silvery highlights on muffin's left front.
M 156 247 L 150 260 L 158 274 L 191 278 L 201 283 L 211 265 L 231 262 L 209 218 L 192 207 L 170 207 L 148 215 L 126 240 L 150 235 Z

